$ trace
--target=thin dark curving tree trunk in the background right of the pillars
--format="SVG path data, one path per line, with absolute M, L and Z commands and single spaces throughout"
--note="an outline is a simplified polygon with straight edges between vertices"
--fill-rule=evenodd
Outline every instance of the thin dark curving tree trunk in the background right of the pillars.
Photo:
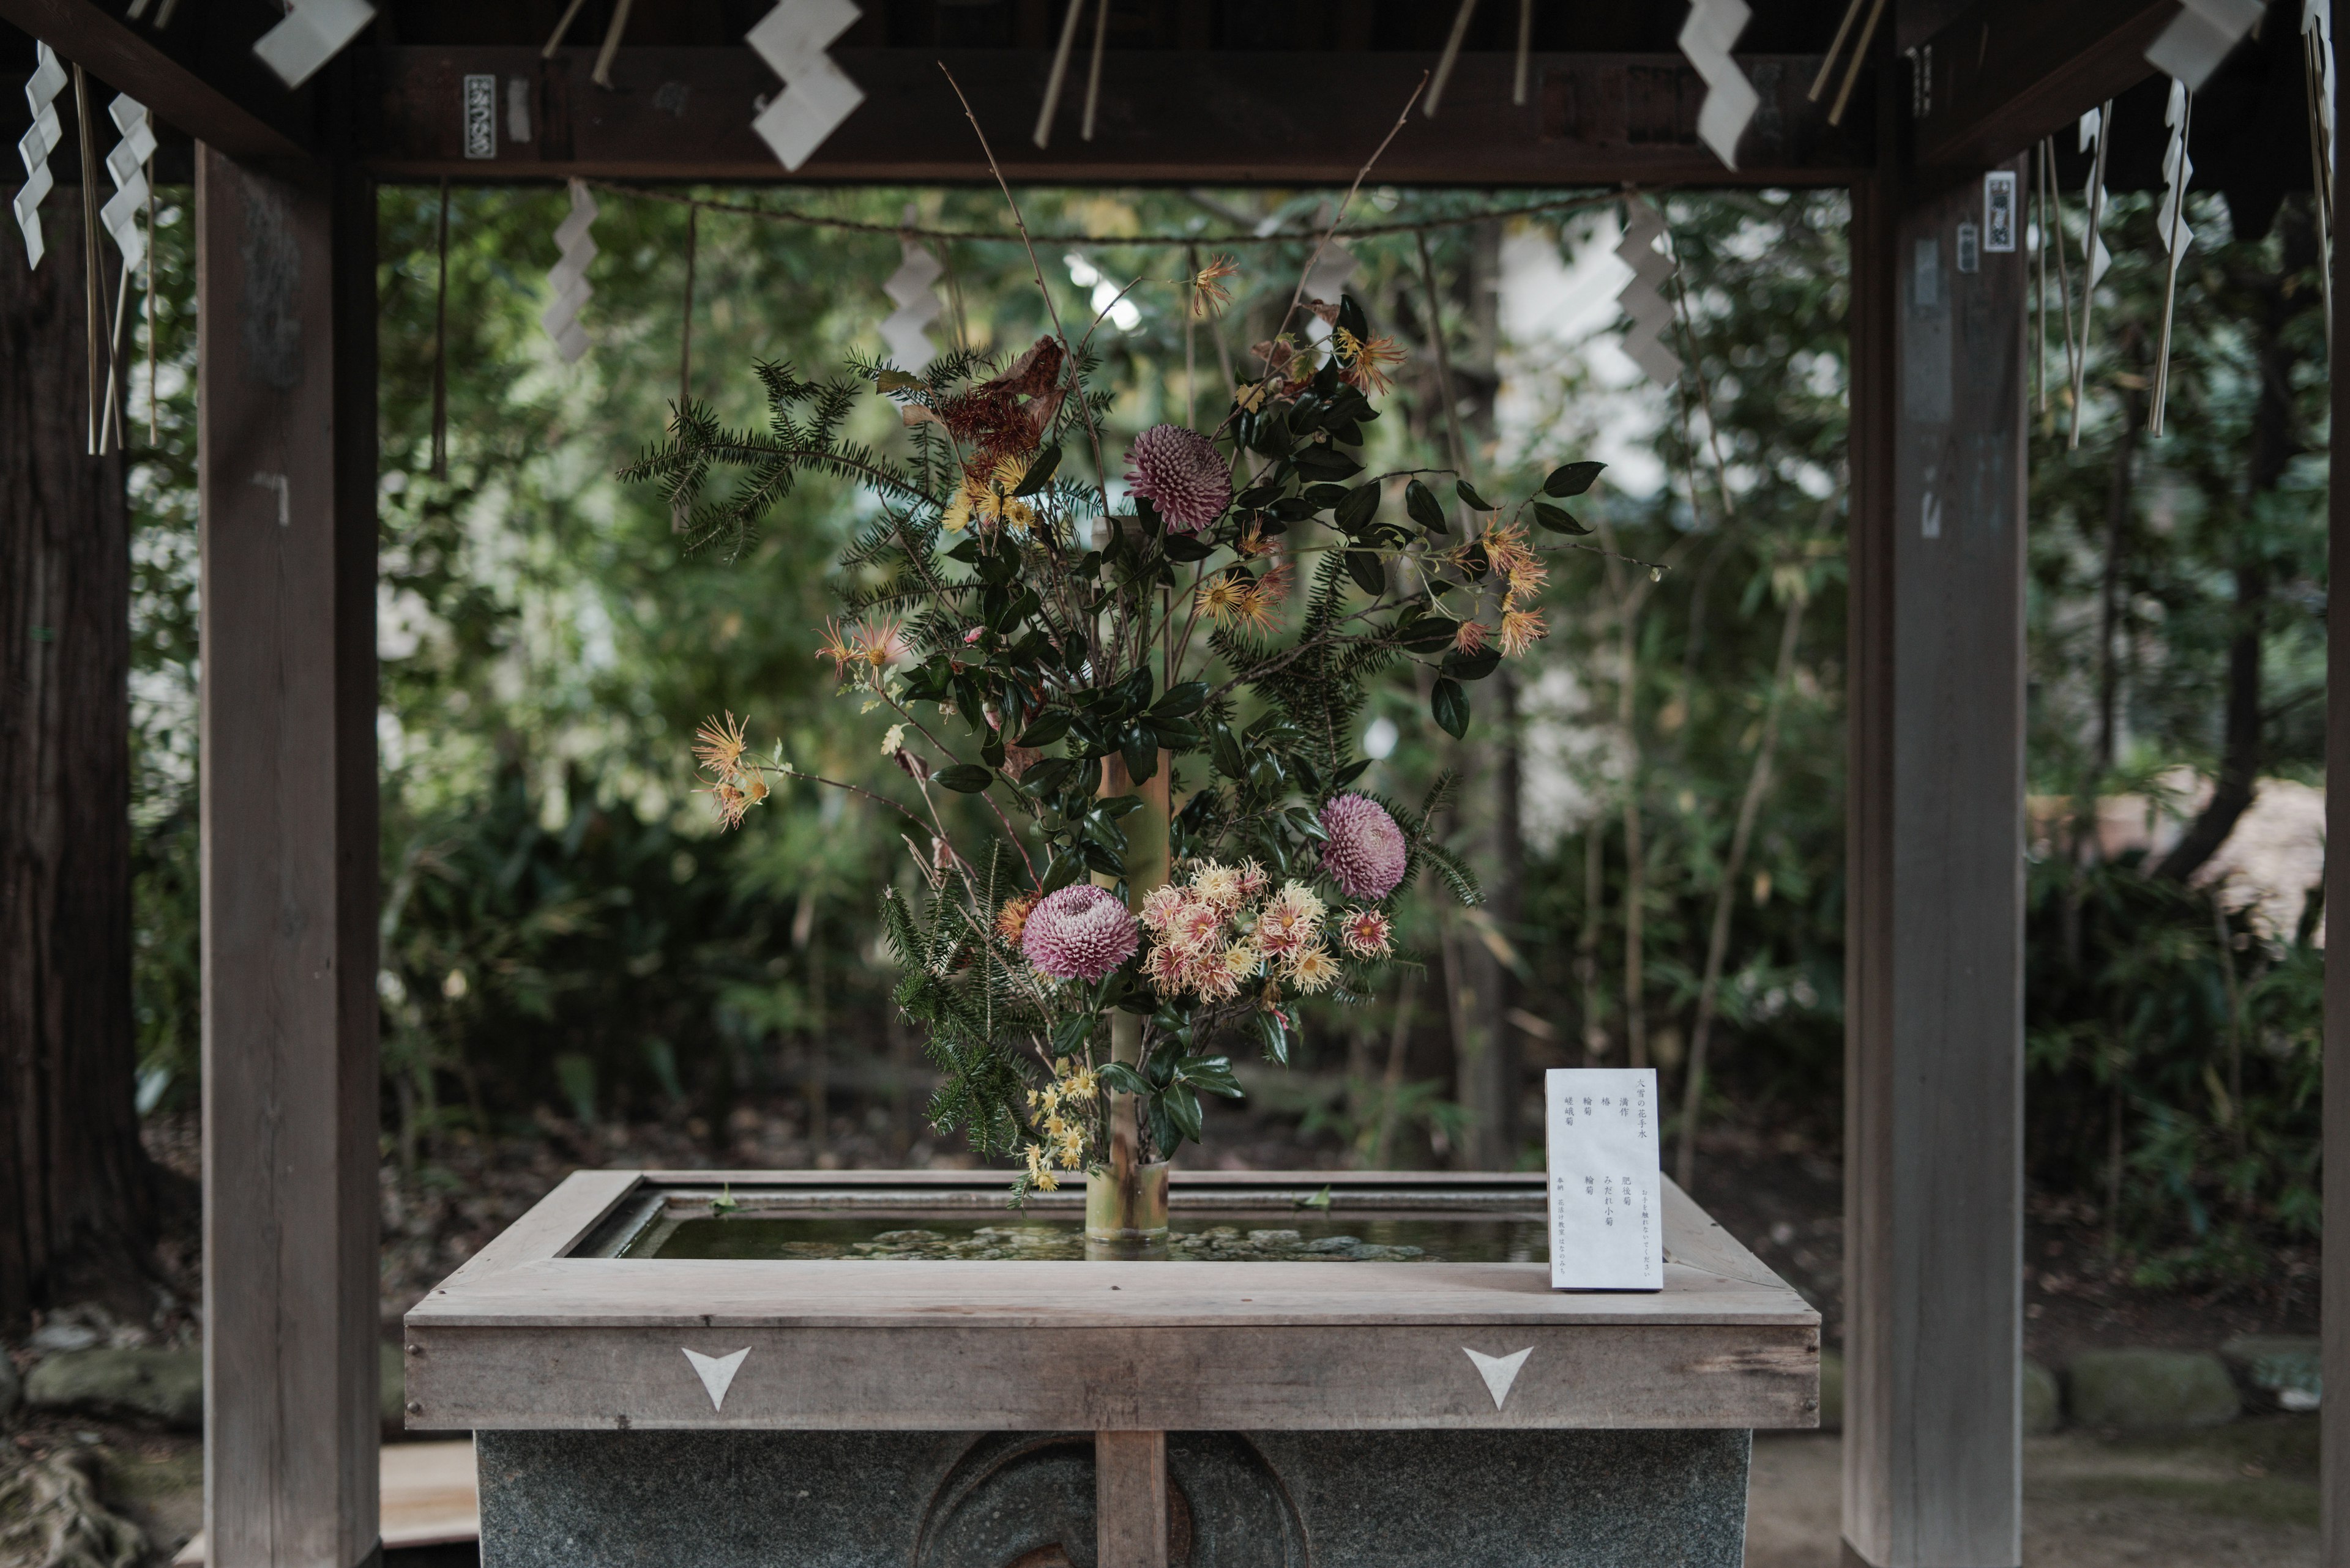
M 2261 346 L 2261 402 L 2251 414 L 2251 449 L 2244 454 L 2244 524 L 2235 529 L 2235 635 L 2228 642 L 2228 717 L 2223 726 L 2218 783 L 2211 802 L 2188 825 L 2186 837 L 2162 856 L 2157 875 L 2186 882 L 2218 853 L 2235 823 L 2251 806 L 2261 780 L 2261 644 L 2268 630 L 2268 557 L 2258 529 L 2249 527 L 2261 496 L 2277 489 L 2287 465 L 2301 454 L 2294 435 L 2294 371 L 2301 350 L 2291 324 L 2319 303 L 2317 289 L 2294 292 L 2291 282 L 2317 261 L 2317 237 L 2308 209 L 2289 202 L 2282 268 L 2261 280 L 2254 331 Z

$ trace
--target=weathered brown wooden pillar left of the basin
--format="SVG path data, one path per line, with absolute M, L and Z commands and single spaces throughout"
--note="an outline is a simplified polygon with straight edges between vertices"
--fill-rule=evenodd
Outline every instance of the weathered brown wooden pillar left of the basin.
M 204 1535 L 376 1540 L 376 226 L 197 148 Z

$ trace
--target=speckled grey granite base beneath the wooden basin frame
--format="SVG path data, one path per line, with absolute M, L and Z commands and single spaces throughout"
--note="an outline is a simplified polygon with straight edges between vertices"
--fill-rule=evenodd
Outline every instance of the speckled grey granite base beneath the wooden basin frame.
M 1173 1432 L 1170 1563 L 1739 1568 L 1748 1439 Z M 1095 1568 L 1090 1432 L 482 1432 L 477 1446 L 482 1568 Z

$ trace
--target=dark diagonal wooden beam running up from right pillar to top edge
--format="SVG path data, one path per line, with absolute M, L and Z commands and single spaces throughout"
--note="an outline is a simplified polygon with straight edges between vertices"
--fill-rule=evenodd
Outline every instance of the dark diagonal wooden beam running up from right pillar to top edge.
M 1976 0 L 1918 52 L 1918 162 L 1981 169 L 2150 78 L 2178 0 Z

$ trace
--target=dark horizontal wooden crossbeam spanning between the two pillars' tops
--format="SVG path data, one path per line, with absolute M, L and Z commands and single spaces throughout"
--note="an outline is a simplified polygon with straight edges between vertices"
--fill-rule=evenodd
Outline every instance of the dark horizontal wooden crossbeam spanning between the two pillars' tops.
M 1076 118 L 1050 150 L 1029 141 L 1050 54 L 837 49 L 865 103 L 825 141 L 799 181 L 982 183 L 978 139 L 940 73 L 954 71 L 1003 172 L 1032 183 L 1337 186 L 1396 120 L 1426 61 L 1349 54 L 1344 82 L 1325 54 L 1109 54 L 1102 122 L 1079 141 Z M 623 49 L 609 89 L 588 80 L 592 49 L 540 61 L 515 47 L 385 47 L 352 52 L 355 150 L 385 179 L 792 179 L 752 134 L 778 92 L 750 49 Z M 1725 169 L 1697 141 L 1704 82 L 1680 56 L 1537 56 L 1539 92 L 1511 106 L 1509 56 L 1462 56 L 1436 120 L 1419 115 L 1379 162 L 1382 183 L 1429 186 L 1840 186 L 1868 162 L 1868 132 L 1831 129 L 1805 99 L 1817 61 L 1741 61 L 1762 94 Z M 496 148 L 465 158 L 468 75 L 496 80 Z M 529 141 L 512 132 L 510 89 L 529 99 Z M 1302 87 L 1321 82 L 1323 87 Z M 1866 118 L 1856 118 L 1866 120 Z M 482 150 L 482 148 L 477 148 Z

